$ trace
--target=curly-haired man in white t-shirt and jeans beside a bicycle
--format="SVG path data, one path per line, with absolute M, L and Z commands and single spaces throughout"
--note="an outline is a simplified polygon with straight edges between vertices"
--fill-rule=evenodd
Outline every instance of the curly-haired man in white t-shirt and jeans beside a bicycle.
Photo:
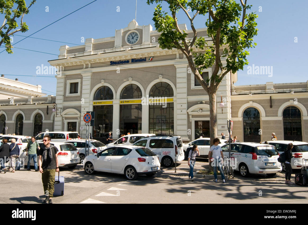
M 225 175 L 222 171 L 221 165 L 224 163 L 224 155 L 222 153 L 221 146 L 219 146 L 219 138 L 214 138 L 213 140 L 214 145 L 211 146 L 209 151 L 209 161 L 212 162 L 213 171 L 214 171 L 214 177 L 215 177 L 215 183 L 217 183 L 217 173 L 216 173 L 216 167 L 218 167 L 218 170 L 221 174 L 222 183 L 226 183 L 225 181 Z

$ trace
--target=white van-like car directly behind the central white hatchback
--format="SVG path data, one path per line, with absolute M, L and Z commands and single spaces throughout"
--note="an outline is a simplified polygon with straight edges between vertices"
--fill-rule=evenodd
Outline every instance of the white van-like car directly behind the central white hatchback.
M 175 161 L 178 163 L 184 160 L 183 142 L 180 136 L 155 135 L 142 138 L 134 145 L 150 149 L 165 167 L 172 166 Z

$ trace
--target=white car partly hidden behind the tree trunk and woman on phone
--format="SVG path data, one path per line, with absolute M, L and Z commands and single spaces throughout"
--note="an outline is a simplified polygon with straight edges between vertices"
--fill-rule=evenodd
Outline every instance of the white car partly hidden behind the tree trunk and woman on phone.
M 227 139 L 219 139 L 220 146 L 225 145 L 225 143 L 229 143 Z M 187 144 L 183 144 L 183 149 L 185 152 L 185 158 L 188 158 L 188 154 L 190 149 L 192 149 L 193 145 L 198 145 L 200 158 L 208 158 L 209 157 L 209 151 L 210 151 L 210 138 L 198 138 L 196 140 L 193 140 L 192 142 L 188 142 Z

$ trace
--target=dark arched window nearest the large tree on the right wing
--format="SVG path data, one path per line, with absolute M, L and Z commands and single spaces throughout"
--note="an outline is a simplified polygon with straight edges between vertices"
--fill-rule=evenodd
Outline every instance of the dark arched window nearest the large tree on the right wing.
M 243 123 L 244 142 L 260 142 L 260 112 L 254 107 L 245 109 Z

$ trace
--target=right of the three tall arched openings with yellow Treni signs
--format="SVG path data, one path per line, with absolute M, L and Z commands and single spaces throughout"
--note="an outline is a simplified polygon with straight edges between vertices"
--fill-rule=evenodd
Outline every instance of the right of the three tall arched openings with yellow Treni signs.
M 159 82 L 153 85 L 149 97 L 162 99 L 173 97 L 173 95 L 173 88 L 170 84 Z M 154 104 L 149 103 L 149 133 L 174 134 L 173 102 L 164 102 L 161 100 L 160 103 L 157 101 L 154 101 Z

